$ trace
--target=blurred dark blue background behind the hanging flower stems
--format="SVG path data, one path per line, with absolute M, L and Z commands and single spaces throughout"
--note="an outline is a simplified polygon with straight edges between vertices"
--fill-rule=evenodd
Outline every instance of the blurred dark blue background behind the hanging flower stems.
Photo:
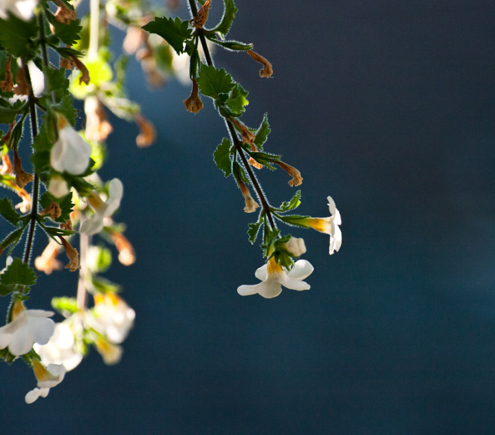
M 311 290 L 239 296 L 263 258 L 245 235 L 254 216 L 212 162 L 225 126 L 209 99 L 187 113 L 189 86 L 151 91 L 130 62 L 129 94 L 158 140 L 140 150 L 137 128 L 111 118 L 100 174 L 124 183 L 115 220 L 137 262 L 105 276 L 135 327 L 120 364 L 93 351 L 32 405 L 32 371 L 1 366 L 1 432 L 493 434 L 495 3 L 236 5 L 230 37 L 274 76 L 243 53 L 217 50 L 217 67 L 250 91 L 246 124 L 268 112 L 265 149 L 304 178 L 300 213 L 327 216 L 334 198 L 342 249 L 329 257 L 327 235 L 289 228 L 305 238 Z M 212 22 L 222 10 L 213 0 Z M 272 204 L 294 193 L 285 172 L 257 174 Z M 39 233 L 35 255 L 44 246 Z M 74 274 L 54 273 L 30 307 L 75 295 Z

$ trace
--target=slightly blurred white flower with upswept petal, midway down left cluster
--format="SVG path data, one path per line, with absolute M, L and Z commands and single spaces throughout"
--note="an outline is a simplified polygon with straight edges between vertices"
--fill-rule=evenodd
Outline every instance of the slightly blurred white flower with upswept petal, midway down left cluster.
M 105 217 L 113 215 L 113 212 L 120 207 L 120 200 L 124 194 L 124 186 L 118 178 L 113 178 L 109 186 L 109 198 L 103 202 L 96 192 L 92 192 L 87 200 L 94 214 L 80 226 L 80 233 L 94 235 L 102 231 L 103 220 Z

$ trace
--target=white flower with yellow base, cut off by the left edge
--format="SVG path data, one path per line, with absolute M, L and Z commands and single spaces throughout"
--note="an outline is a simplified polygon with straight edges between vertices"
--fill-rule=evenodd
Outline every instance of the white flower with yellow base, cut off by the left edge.
M 47 344 L 54 333 L 52 311 L 25 309 L 21 302 L 14 303 L 12 322 L 0 328 L 0 349 L 8 350 L 12 355 L 28 353 L 34 343 Z

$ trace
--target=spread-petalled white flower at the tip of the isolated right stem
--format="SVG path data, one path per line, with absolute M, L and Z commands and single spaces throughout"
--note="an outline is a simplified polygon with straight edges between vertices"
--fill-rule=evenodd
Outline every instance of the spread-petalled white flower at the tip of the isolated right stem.
M 309 290 L 310 285 L 303 279 L 309 277 L 313 270 L 314 268 L 309 261 L 298 260 L 294 263 L 294 267 L 287 272 L 278 266 L 272 257 L 265 266 L 261 266 L 254 273 L 254 276 L 263 282 L 256 285 L 241 285 L 237 289 L 237 293 L 241 296 L 258 293 L 263 298 L 274 298 L 281 294 L 282 285 L 291 290 Z

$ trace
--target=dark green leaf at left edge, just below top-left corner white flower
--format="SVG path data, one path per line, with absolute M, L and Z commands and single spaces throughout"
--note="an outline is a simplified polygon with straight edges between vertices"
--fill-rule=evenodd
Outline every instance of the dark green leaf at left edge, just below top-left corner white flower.
M 25 56 L 34 49 L 33 39 L 38 36 L 36 19 L 23 21 L 9 15 L 7 20 L 0 19 L 0 45 L 16 57 Z

